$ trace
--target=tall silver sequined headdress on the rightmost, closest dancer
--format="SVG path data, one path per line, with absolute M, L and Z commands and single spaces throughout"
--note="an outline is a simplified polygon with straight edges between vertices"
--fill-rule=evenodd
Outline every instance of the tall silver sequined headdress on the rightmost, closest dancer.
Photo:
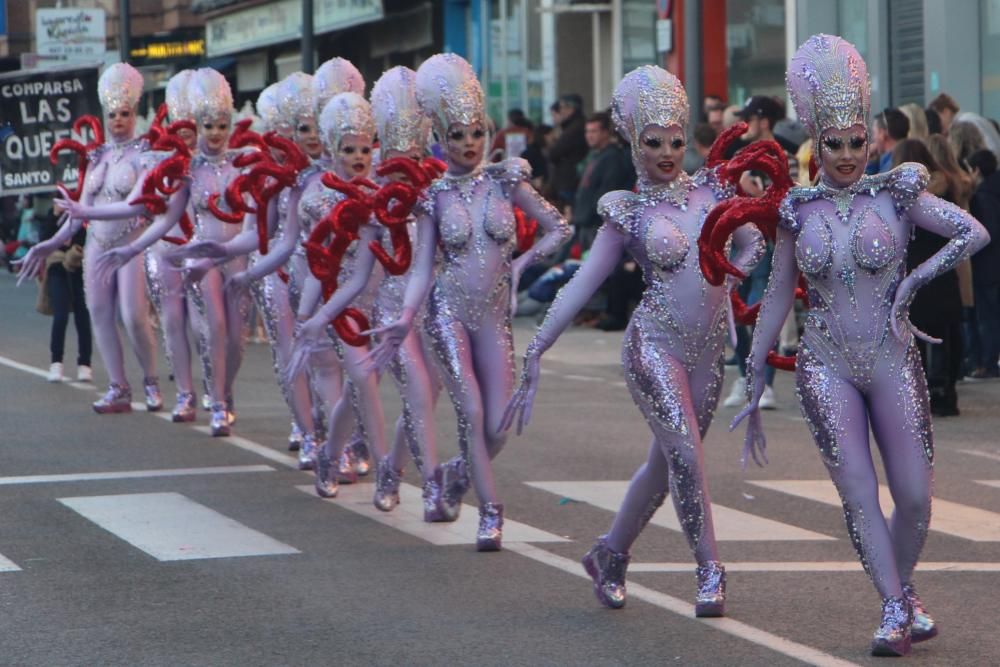
M 861 54 L 850 42 L 813 35 L 792 56 L 788 96 L 815 145 L 824 130 L 868 127 L 871 81 Z

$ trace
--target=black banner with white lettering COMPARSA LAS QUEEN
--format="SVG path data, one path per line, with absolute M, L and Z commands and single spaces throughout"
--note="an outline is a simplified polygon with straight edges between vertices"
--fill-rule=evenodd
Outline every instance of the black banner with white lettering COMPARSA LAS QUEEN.
M 101 117 L 96 67 L 0 75 L 0 195 L 51 192 L 57 183 L 75 186 L 76 154 L 64 152 L 54 165 L 49 151 L 71 136 L 93 141 L 73 135 L 73 121 L 87 114 Z

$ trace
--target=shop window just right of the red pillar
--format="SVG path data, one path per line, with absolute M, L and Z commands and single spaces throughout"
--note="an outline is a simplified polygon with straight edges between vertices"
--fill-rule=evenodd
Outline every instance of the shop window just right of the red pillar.
M 785 0 L 726 0 L 729 102 L 785 97 Z

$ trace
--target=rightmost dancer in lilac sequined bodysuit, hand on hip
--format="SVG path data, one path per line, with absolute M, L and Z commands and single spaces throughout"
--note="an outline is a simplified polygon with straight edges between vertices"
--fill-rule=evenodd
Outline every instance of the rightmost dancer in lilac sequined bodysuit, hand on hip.
M 792 306 L 799 274 L 810 310 L 796 364 L 802 413 L 837 490 L 848 534 L 882 597 L 872 653 L 905 655 L 937 634 L 912 577 L 931 516 L 934 446 L 926 380 L 909 323 L 913 295 L 983 247 L 976 220 L 925 192 L 924 167 L 906 163 L 864 176 L 868 72 L 852 45 L 814 35 L 796 52 L 788 93 L 819 157 L 819 182 L 791 190 L 771 279 L 754 329 L 747 387 L 748 446 L 764 445 L 758 404 L 764 364 Z M 914 226 L 949 239 L 906 273 Z M 868 442 L 875 434 L 896 509 L 886 522 Z

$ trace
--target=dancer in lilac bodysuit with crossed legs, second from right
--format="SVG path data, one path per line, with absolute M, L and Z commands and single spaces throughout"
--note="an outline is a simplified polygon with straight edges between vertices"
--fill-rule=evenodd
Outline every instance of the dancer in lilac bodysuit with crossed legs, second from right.
M 683 86 L 669 72 L 646 66 L 628 74 L 615 90 L 612 114 L 632 145 L 637 192 L 611 192 L 599 202 L 604 225 L 528 346 L 505 426 L 518 412 L 518 432 L 527 423 L 542 354 L 614 270 L 622 251 L 628 251 L 642 267 L 648 287 L 625 332 L 622 361 L 653 441 L 611 531 L 598 539 L 583 564 L 598 599 L 615 609 L 624 606 L 629 547 L 669 489 L 698 565 L 696 614 L 722 616 L 725 569 L 715 544 L 701 443 L 722 387 L 728 294 L 702 276 L 697 239 L 708 211 L 733 190 L 713 169 L 693 177 L 681 169 L 689 110 Z M 736 242 L 736 263 L 751 268 L 763 255 L 760 233 L 744 227 Z

